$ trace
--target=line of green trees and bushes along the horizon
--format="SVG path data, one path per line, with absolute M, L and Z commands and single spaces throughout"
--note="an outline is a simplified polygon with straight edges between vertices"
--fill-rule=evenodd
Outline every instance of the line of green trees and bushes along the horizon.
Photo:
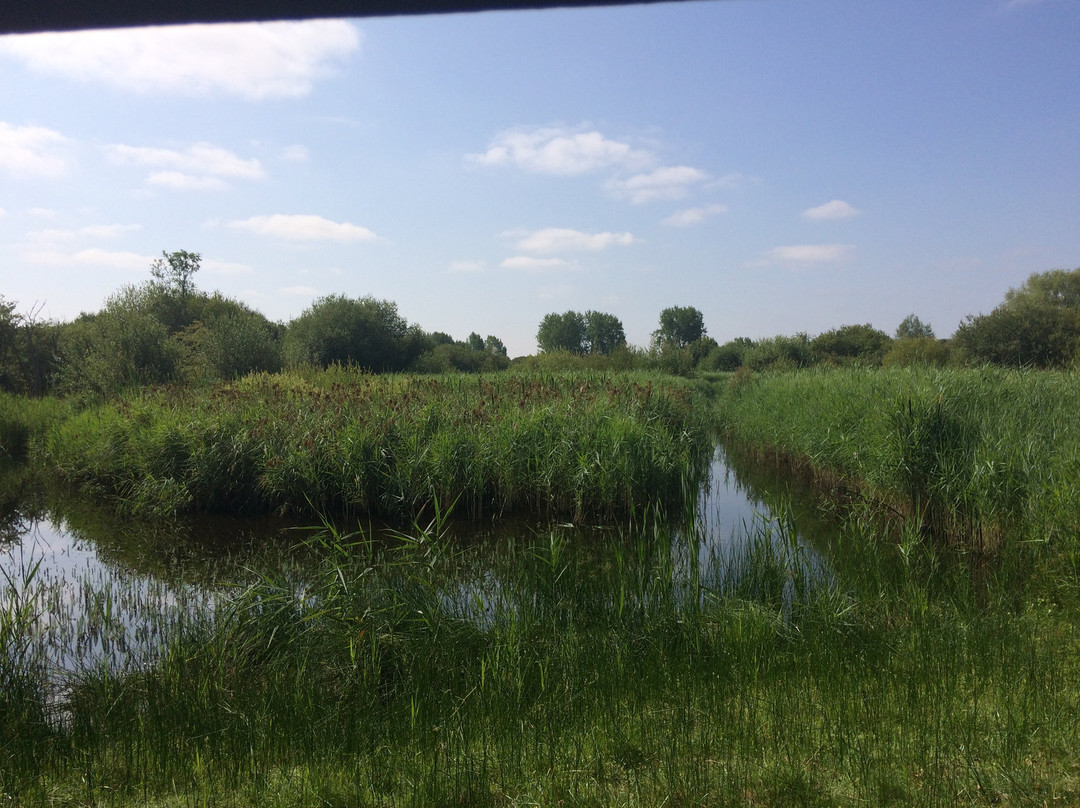
M 162 253 L 151 280 L 125 286 L 97 312 L 68 323 L 18 313 L 0 296 L 0 389 L 30 395 L 104 396 L 130 387 L 206 383 L 253 372 L 333 364 L 373 373 L 487 373 L 512 363 L 502 340 L 463 340 L 408 323 L 397 306 L 370 296 L 328 295 L 287 325 L 274 323 L 193 281 L 198 253 Z M 693 372 L 780 371 L 811 365 L 998 364 L 1066 367 L 1080 362 L 1080 269 L 1035 273 L 988 314 L 967 318 L 949 339 L 915 314 L 893 335 L 868 324 L 843 325 L 766 339 L 718 344 L 702 312 L 673 306 L 660 312 L 648 347 L 626 342 L 615 314 L 546 314 L 539 353 L 526 366 L 658 368 Z

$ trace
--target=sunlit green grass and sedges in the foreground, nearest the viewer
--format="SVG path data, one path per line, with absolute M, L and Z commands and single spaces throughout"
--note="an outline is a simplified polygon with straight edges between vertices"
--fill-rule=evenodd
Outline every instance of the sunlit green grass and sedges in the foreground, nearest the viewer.
M 1043 805 L 1080 799 L 1058 609 L 855 598 L 782 523 L 492 552 L 332 528 L 92 666 L 4 750 L 18 805 Z M 866 537 L 852 533 L 866 547 Z M 689 547 L 686 544 L 689 542 Z M 868 588 L 864 588 L 868 589 Z M 144 605 L 152 618 L 158 606 Z M 99 615 L 99 619 L 105 619 Z M 49 699 L 37 690 L 36 698 Z M 42 695 L 44 693 L 44 695 Z

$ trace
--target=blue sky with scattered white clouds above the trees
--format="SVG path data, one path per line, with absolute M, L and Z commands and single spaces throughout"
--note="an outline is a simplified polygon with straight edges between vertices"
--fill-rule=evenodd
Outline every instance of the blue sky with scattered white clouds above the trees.
M 1080 267 L 1076 0 L 696 0 L 0 37 L 0 296 L 71 320 L 202 256 L 535 353 L 909 313 Z

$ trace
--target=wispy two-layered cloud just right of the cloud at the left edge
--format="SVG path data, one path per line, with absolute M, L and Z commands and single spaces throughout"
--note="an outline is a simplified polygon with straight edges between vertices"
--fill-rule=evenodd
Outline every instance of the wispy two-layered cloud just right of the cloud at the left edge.
M 221 190 L 228 188 L 228 179 L 266 177 L 262 164 L 255 158 L 244 159 L 208 143 L 183 150 L 118 144 L 105 147 L 105 152 L 118 165 L 152 169 L 146 181 L 174 190 Z

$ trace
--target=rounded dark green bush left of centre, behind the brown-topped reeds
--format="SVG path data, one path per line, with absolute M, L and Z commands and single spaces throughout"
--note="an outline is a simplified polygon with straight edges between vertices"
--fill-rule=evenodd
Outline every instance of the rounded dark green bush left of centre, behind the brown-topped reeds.
M 287 365 L 356 365 L 375 373 L 404 371 L 426 347 L 422 332 L 397 313 L 397 305 L 367 296 L 327 295 L 288 325 Z

